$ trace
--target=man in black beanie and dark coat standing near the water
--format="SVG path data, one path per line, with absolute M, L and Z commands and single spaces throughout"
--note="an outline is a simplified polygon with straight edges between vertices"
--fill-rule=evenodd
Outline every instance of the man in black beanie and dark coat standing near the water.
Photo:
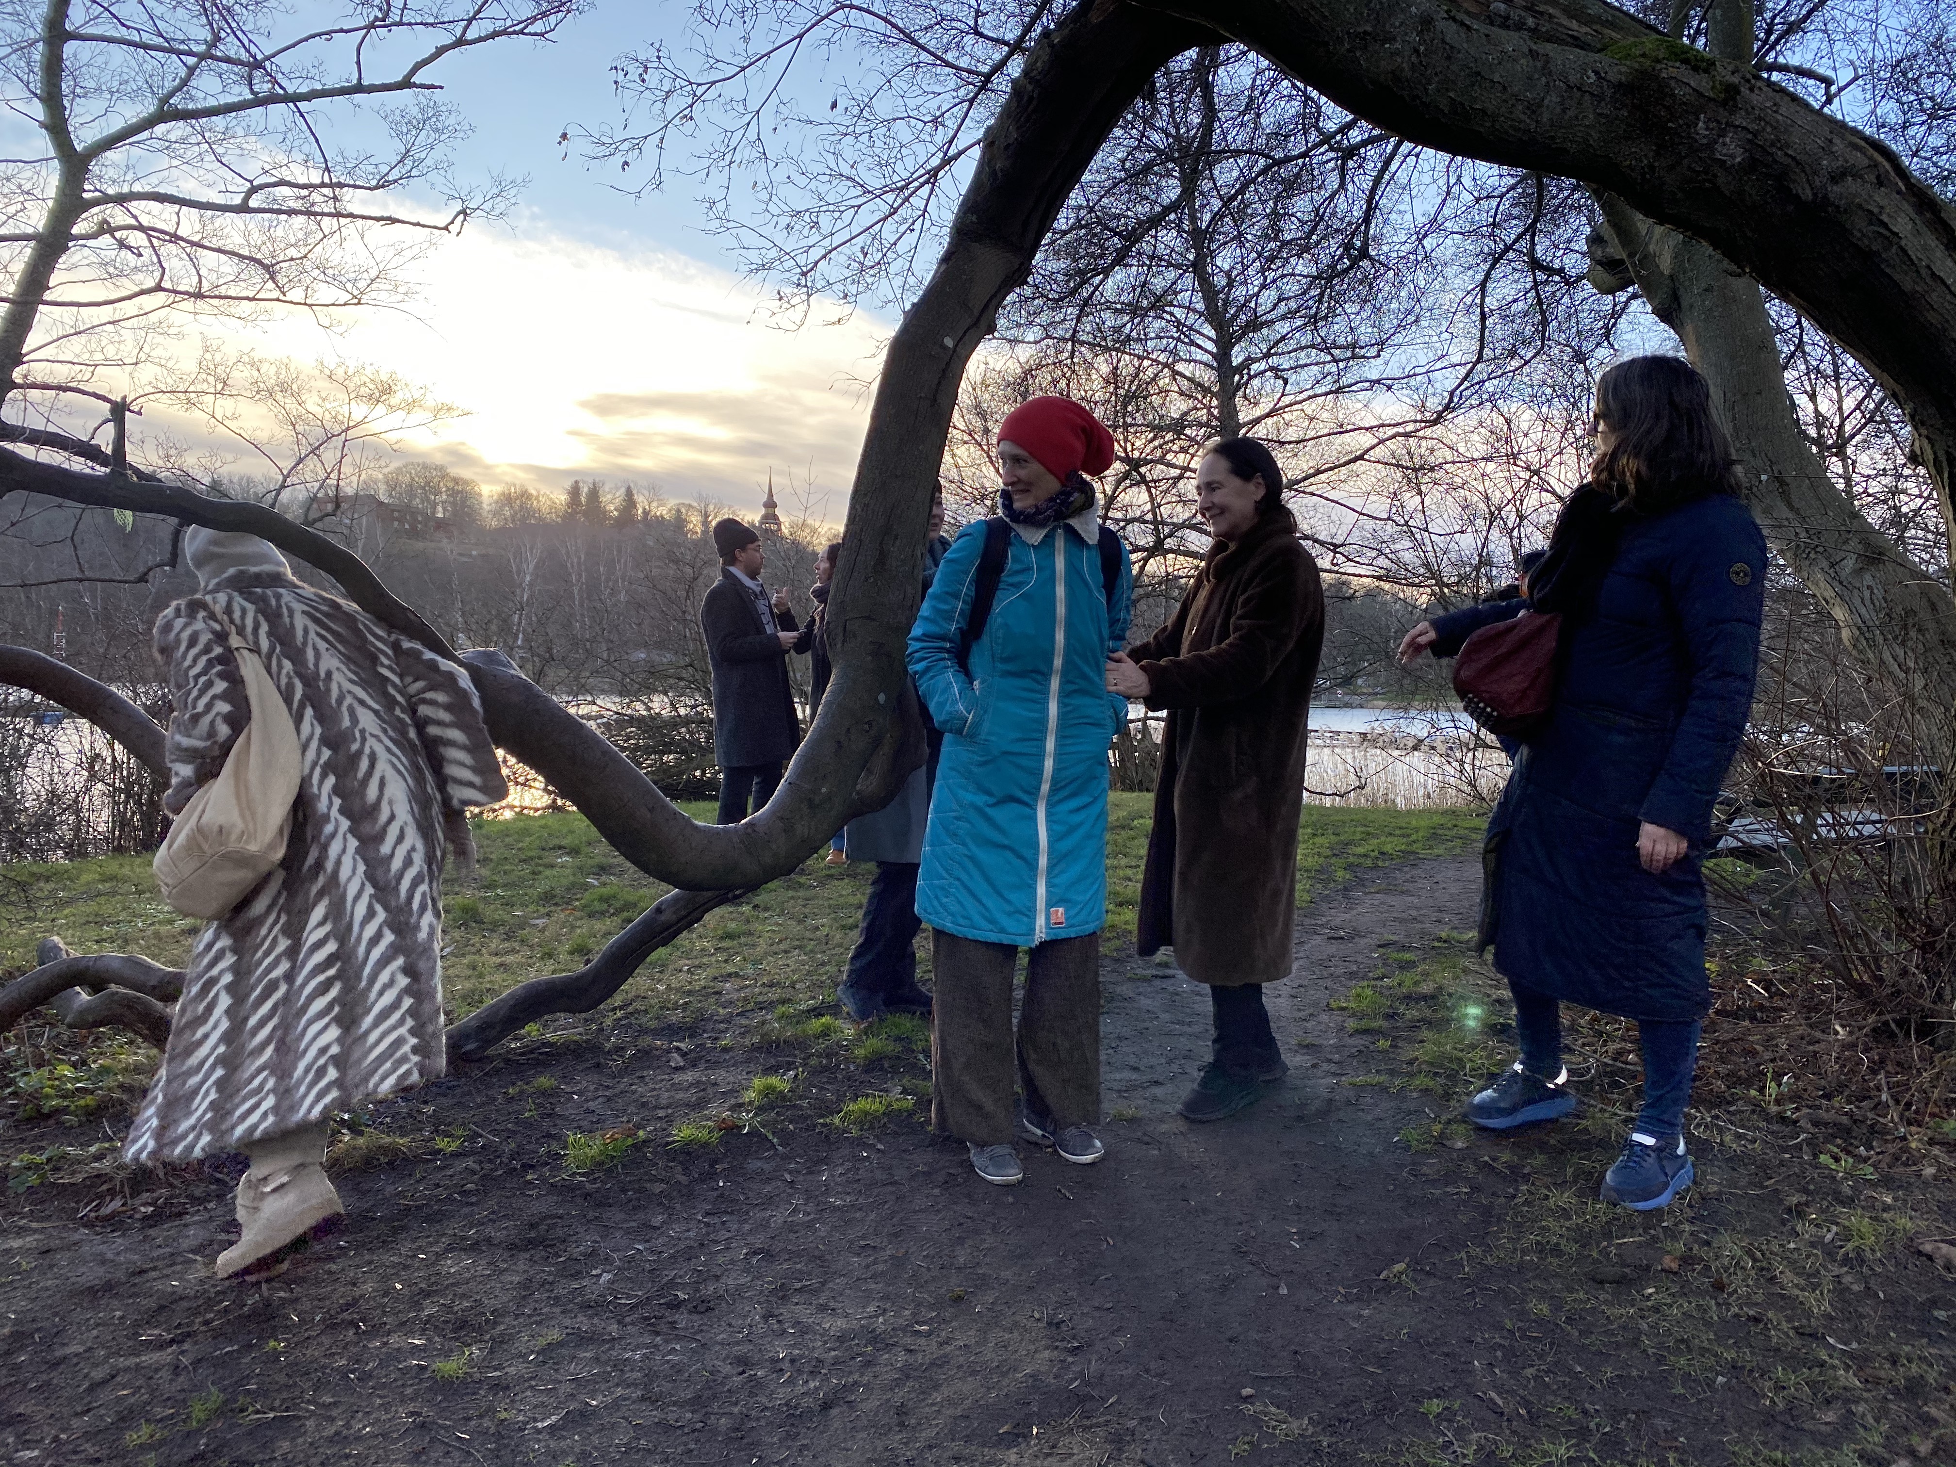
M 788 653 L 800 622 L 788 595 L 761 585 L 761 536 L 739 520 L 714 524 L 720 581 L 700 604 L 700 632 L 714 667 L 714 759 L 720 763 L 720 823 L 747 818 L 780 784 L 780 769 L 802 741 L 788 687 Z

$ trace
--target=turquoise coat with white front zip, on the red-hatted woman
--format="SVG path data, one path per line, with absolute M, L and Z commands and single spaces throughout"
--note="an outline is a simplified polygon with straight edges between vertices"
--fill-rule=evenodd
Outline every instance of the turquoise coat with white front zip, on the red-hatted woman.
M 1127 720 L 1107 692 L 1107 655 L 1127 645 L 1134 571 L 1123 546 L 1109 604 L 1093 511 L 1013 530 L 970 677 L 956 647 L 982 522 L 953 542 L 910 632 L 910 671 L 945 732 L 917 915 L 956 937 L 1033 947 L 1107 921 L 1107 745 Z

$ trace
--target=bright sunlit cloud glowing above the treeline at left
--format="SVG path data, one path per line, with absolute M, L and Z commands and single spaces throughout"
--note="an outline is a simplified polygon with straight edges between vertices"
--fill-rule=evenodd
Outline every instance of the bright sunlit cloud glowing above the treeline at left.
M 841 518 L 888 327 L 855 315 L 782 331 L 737 276 L 665 250 L 471 229 L 421 268 L 415 313 L 348 325 L 336 352 L 430 385 L 469 417 L 403 450 L 497 483 L 655 483 L 759 505 L 769 467 Z M 260 350 L 309 358 L 284 323 Z

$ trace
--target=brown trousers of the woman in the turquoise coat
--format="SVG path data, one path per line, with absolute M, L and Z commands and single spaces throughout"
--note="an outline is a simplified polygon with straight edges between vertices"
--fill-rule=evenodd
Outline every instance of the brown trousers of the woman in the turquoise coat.
M 1011 1144 L 1015 1076 L 1033 1111 L 1099 1123 L 1099 933 L 1031 951 L 1013 1035 L 1017 956 L 1011 943 L 931 935 L 931 1129 L 974 1146 Z

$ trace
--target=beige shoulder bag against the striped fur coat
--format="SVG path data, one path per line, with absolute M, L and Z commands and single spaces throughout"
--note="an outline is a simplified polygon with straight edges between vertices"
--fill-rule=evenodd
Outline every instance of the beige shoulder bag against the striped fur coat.
M 162 900 L 186 917 L 221 917 L 286 859 L 299 798 L 299 730 L 264 657 L 217 606 L 244 677 L 250 722 L 217 778 L 190 796 L 156 851 Z

